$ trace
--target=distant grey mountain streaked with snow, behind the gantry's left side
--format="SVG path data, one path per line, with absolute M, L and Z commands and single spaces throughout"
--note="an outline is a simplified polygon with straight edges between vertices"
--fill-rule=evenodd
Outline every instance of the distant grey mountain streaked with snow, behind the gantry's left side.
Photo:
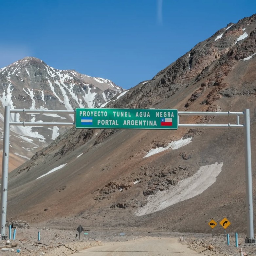
M 75 70 L 58 70 L 40 59 L 26 57 L 0 69 L 0 123 L 3 123 L 4 106 L 7 105 L 11 109 L 96 108 L 123 91 L 108 79 L 90 77 Z M 72 115 L 56 114 L 24 115 L 18 116 L 18 119 L 33 122 L 74 120 Z M 26 159 L 66 129 L 30 126 L 10 128 L 10 152 Z

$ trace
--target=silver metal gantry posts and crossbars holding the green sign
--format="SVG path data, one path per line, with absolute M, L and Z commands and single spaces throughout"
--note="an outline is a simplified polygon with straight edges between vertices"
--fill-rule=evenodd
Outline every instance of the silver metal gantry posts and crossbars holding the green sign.
M 14 121 L 10 121 L 10 115 L 14 113 Z M 74 114 L 74 122 L 18 122 L 17 113 L 24 114 Z M 179 123 L 179 116 L 237 116 L 234 124 L 182 124 Z M 244 116 L 243 124 L 240 124 L 239 116 Z M 74 110 L 30 110 L 30 109 L 10 109 L 10 106 L 5 106 L 4 116 L 4 137 L 3 137 L 3 162 L 2 162 L 2 185 L 1 185 L 1 238 L 6 239 L 6 214 L 7 214 L 7 192 L 8 192 L 8 164 L 9 164 L 9 136 L 10 125 L 22 126 L 75 126 L 75 111 Z M 253 230 L 253 205 L 252 205 L 252 170 L 251 170 L 251 138 L 250 138 L 250 112 L 245 109 L 244 112 L 189 112 L 178 111 L 178 127 L 233 127 L 244 128 L 245 139 L 245 170 L 246 170 L 246 207 L 247 207 L 247 236 L 245 243 L 256 243 Z

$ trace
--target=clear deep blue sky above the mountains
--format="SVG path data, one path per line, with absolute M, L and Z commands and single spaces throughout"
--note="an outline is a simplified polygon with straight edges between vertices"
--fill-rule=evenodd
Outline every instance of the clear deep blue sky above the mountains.
M 0 0 L 0 68 L 33 56 L 128 89 L 149 80 L 255 0 Z

